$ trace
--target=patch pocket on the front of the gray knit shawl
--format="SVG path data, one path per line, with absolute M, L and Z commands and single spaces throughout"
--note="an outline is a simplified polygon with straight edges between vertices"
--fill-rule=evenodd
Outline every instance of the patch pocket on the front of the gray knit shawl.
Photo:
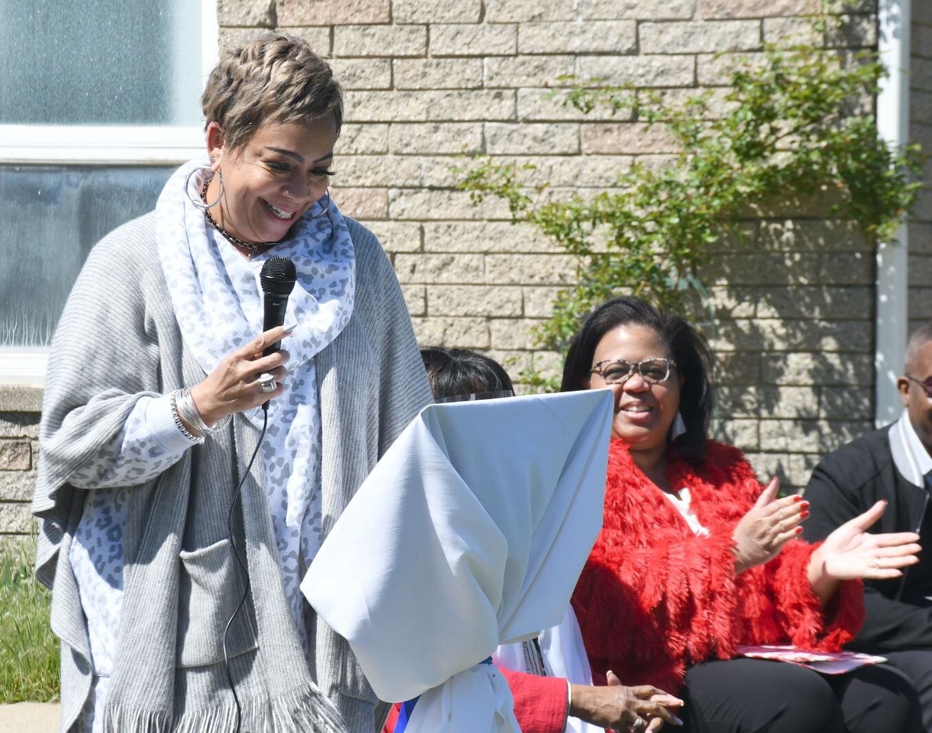
M 224 659 L 224 630 L 244 587 L 229 538 L 199 550 L 181 550 L 178 599 L 178 667 L 203 667 Z M 236 657 L 258 646 L 250 598 L 230 625 L 226 652 Z

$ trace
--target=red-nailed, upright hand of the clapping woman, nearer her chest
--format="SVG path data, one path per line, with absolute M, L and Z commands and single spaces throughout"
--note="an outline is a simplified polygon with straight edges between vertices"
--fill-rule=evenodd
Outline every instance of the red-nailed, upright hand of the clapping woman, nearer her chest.
M 809 516 L 809 502 L 798 494 L 778 499 L 779 489 L 779 480 L 772 479 L 735 526 L 732 535 L 735 572 L 743 573 L 770 562 L 790 539 L 802 532 L 800 524 Z

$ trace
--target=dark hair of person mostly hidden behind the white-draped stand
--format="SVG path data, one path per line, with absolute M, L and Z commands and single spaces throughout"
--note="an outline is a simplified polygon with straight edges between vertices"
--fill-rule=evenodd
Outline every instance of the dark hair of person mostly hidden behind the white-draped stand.
M 420 358 L 431 380 L 434 400 L 514 389 L 498 361 L 466 348 L 425 346 Z

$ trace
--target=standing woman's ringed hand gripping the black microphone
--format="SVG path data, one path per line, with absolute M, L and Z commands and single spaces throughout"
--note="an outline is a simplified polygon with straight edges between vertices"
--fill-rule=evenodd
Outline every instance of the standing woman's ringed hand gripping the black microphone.
M 205 423 L 213 425 L 228 414 L 241 413 L 281 396 L 288 352 L 276 351 L 267 357 L 262 352 L 288 333 L 284 326 L 261 333 L 246 346 L 227 354 L 203 382 L 191 387 L 191 397 Z M 274 392 L 263 392 L 259 387 L 256 380 L 262 373 L 275 377 Z

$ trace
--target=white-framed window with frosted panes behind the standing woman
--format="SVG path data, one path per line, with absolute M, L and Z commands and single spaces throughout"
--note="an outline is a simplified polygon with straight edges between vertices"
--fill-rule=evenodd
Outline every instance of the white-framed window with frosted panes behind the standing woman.
M 41 384 L 90 248 L 203 155 L 216 0 L 0 0 L 0 383 Z

